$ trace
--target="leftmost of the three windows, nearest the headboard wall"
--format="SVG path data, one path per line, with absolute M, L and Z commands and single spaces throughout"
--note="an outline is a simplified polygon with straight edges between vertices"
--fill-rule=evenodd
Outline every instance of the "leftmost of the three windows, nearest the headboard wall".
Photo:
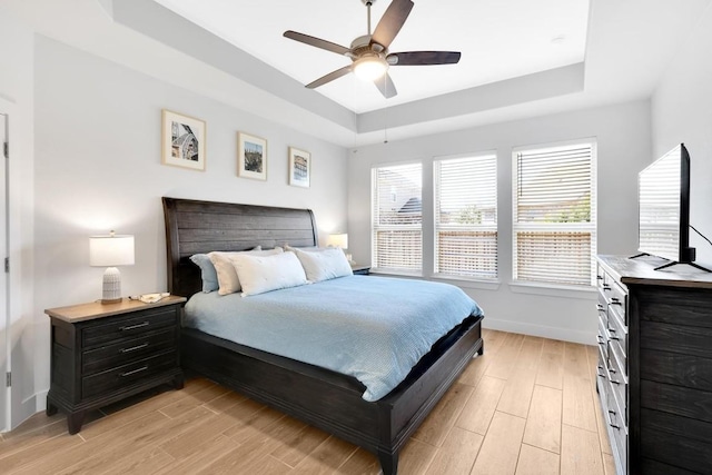
M 373 170 L 373 264 L 378 270 L 419 274 L 423 269 L 423 167 Z

